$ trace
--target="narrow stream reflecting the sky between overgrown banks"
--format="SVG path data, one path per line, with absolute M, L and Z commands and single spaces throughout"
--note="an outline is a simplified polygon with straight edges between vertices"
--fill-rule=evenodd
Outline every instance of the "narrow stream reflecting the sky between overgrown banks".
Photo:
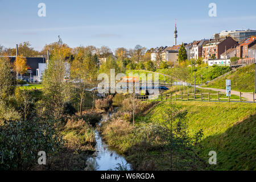
M 108 114 L 104 114 L 99 125 L 102 122 L 105 122 L 111 117 Z M 86 170 L 96 170 L 96 171 L 107 171 L 117 167 L 117 164 L 126 165 L 127 162 L 122 155 L 117 154 L 114 150 L 110 149 L 109 146 L 102 141 L 101 134 L 96 130 L 96 152 L 92 158 L 89 158 L 86 162 Z M 130 164 L 127 164 L 127 167 L 130 168 Z

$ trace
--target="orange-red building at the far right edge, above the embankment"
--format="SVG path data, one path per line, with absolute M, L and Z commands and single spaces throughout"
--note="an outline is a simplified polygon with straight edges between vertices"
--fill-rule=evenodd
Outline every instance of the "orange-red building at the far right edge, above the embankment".
M 237 57 L 247 58 L 249 57 L 248 50 L 250 47 L 256 44 L 256 37 L 251 37 L 245 40 L 237 47 Z

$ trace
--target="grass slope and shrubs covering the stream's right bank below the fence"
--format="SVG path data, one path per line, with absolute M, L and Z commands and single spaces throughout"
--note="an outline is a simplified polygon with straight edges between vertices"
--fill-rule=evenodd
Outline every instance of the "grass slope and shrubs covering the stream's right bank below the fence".
M 150 101 L 142 103 L 152 104 Z M 134 169 L 255 169 L 256 107 L 253 104 L 175 102 L 176 106 L 171 109 L 169 101 L 153 103 L 150 109 L 137 113 L 134 129 L 131 117 L 125 116 L 129 114 L 117 114 L 101 128 L 106 142 L 124 154 Z M 168 115 L 164 113 L 171 110 L 187 119 L 181 119 L 186 127 L 180 127 L 191 144 L 189 150 L 182 152 L 179 147 L 175 148 L 181 153 L 174 152 L 176 166 L 172 168 L 170 140 L 164 133 L 164 129 L 168 129 L 164 124 Z M 175 144 L 174 140 L 172 143 Z M 217 165 L 209 165 L 209 151 L 217 152 Z

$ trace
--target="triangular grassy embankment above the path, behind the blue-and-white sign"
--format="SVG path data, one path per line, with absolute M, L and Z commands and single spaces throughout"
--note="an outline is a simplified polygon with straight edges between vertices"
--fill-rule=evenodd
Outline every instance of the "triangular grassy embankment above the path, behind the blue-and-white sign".
M 237 71 L 210 82 L 210 88 L 225 89 L 226 79 L 231 80 L 231 89 L 240 92 L 254 92 L 254 64 L 238 68 Z

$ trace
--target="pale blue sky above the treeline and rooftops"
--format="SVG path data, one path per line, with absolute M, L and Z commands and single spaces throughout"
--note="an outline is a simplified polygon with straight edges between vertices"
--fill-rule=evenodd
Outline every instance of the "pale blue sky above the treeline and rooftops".
M 38 4 L 46 4 L 46 17 Z M 217 17 L 209 17 L 209 3 L 216 3 Z M 36 50 L 57 41 L 77 46 L 151 48 L 211 38 L 222 30 L 256 30 L 256 1 L 48 1 L 0 0 L 0 45 L 15 47 L 29 41 Z

